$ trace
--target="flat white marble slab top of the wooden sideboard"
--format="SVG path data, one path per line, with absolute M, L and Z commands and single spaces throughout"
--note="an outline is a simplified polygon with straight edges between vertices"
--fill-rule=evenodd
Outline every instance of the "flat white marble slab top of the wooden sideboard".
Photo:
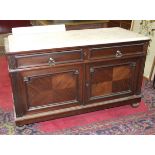
M 10 53 L 149 39 L 149 37 L 141 34 L 114 27 L 48 33 L 14 34 L 8 36 L 5 41 L 5 47 L 6 52 Z

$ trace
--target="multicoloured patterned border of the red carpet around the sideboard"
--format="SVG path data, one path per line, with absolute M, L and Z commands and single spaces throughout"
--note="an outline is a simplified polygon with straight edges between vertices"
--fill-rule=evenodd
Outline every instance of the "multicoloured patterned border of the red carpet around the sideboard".
M 142 87 L 143 101 L 149 107 L 147 112 L 140 112 L 110 120 L 101 120 L 86 125 L 66 128 L 54 132 L 44 132 L 38 123 L 16 127 L 13 110 L 4 112 L 0 108 L 0 134 L 20 135 L 150 135 L 155 134 L 155 89 L 152 83 L 144 81 Z

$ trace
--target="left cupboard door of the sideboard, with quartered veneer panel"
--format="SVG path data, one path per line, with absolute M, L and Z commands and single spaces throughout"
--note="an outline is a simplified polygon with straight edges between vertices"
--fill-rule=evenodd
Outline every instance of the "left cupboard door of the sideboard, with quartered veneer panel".
M 72 107 L 82 102 L 80 65 L 20 72 L 27 111 Z

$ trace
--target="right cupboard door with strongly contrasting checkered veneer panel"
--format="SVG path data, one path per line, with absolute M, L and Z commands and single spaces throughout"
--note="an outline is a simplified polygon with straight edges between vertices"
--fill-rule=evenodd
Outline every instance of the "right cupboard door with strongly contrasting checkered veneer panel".
M 107 61 L 87 65 L 87 101 L 104 101 L 134 94 L 136 61 Z

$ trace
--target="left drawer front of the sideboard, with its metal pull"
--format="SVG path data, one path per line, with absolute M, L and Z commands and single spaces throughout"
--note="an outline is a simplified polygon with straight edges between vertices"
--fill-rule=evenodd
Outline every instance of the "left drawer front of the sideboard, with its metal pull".
M 57 65 L 83 60 L 82 50 L 61 51 L 51 53 L 36 53 L 27 55 L 16 55 L 16 67 L 33 67 L 41 65 Z

